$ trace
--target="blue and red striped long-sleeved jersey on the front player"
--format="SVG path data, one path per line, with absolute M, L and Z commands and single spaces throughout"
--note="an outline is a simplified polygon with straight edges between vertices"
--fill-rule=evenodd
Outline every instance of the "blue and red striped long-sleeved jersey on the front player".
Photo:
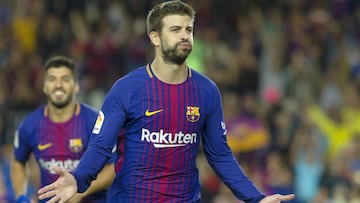
M 217 86 L 191 68 L 175 85 L 157 79 L 150 65 L 120 78 L 104 100 L 93 138 L 73 174 L 79 191 L 85 190 L 118 142 L 122 157 L 108 202 L 200 201 L 201 142 L 210 165 L 239 199 L 264 197 L 227 145 Z

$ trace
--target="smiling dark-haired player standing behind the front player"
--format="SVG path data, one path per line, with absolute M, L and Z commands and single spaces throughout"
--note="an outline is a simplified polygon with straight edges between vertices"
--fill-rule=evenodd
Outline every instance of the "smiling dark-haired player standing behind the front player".
M 47 105 L 29 114 L 15 134 L 11 181 L 18 203 L 30 202 L 25 195 L 30 154 L 34 153 L 39 165 L 41 186 L 57 179 L 54 166 L 73 171 L 91 140 L 98 114 L 92 107 L 76 101 L 79 85 L 75 64 L 69 58 L 55 56 L 47 61 L 43 92 Z M 107 187 L 115 177 L 115 156 L 113 153 L 105 167 L 99 168 L 103 168 L 99 179 L 85 193 L 74 195 L 70 202 L 106 202 Z

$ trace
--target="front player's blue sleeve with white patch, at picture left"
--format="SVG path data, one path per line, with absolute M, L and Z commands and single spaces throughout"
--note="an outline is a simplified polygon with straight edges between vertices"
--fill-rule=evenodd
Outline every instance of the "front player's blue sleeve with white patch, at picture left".
M 91 181 L 96 179 L 97 174 L 113 156 L 114 143 L 117 143 L 127 116 L 125 106 L 128 106 L 129 98 L 126 89 L 123 88 L 126 85 L 121 82 L 116 83 L 104 99 L 89 147 L 76 170 L 72 172 L 78 192 L 87 190 Z

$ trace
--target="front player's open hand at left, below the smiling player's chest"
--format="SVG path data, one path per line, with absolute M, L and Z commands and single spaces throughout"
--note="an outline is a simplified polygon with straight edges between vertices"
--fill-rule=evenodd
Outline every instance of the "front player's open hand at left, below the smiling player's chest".
M 73 175 L 67 171 L 62 171 L 58 167 L 54 167 L 54 171 L 59 178 L 38 191 L 39 199 L 50 198 L 47 203 L 63 203 L 69 200 L 77 191 L 76 180 Z

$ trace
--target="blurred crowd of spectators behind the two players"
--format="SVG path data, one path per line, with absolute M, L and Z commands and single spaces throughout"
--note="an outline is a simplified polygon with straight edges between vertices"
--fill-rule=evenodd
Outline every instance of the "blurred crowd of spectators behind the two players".
M 13 202 L 12 140 L 45 103 L 43 64 L 63 54 L 95 108 L 153 57 L 145 18 L 159 0 L 0 0 L 0 202 Z M 228 141 L 265 193 L 297 203 L 360 202 L 360 1 L 189 0 L 189 66 L 222 92 Z M 235 203 L 202 153 L 203 202 Z M 29 194 L 38 187 L 30 163 Z

